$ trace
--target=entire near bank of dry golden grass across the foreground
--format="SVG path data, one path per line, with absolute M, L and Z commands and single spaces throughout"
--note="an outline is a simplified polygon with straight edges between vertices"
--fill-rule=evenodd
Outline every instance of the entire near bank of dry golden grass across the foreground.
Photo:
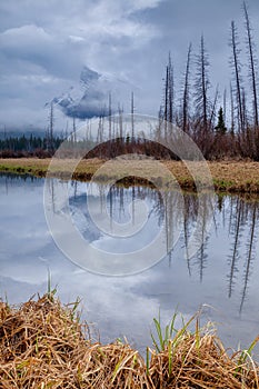
M 91 340 L 76 307 L 53 293 L 18 308 L 0 303 L 1 388 L 259 388 L 251 349 L 229 355 L 197 318 L 193 332 L 190 322 L 176 330 L 173 319 L 162 335 L 156 321 L 143 359 L 121 341 Z

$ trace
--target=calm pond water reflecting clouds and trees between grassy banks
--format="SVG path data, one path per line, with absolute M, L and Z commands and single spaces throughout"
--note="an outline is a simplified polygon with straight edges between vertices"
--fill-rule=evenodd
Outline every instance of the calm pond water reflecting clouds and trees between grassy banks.
M 186 259 L 186 243 L 196 222 L 198 200 L 185 196 L 185 217 L 178 243 L 156 266 L 128 277 L 100 276 L 69 261 L 53 242 L 43 210 L 42 179 L 0 177 L 0 295 L 20 302 L 47 290 L 48 269 L 52 286 L 63 302 L 81 298 L 83 317 L 100 331 L 102 341 L 127 339 L 140 350 L 151 345 L 152 318 L 167 323 L 176 308 L 189 318 L 201 305 L 203 318 L 217 322 L 226 346 L 247 347 L 259 333 L 259 198 L 218 197 L 209 236 Z M 69 189 L 69 208 L 78 231 L 93 247 L 117 253 L 139 250 L 166 226 L 165 245 L 175 233 L 173 209 L 178 193 L 166 201 L 149 188 L 112 187 L 106 203 L 91 190 L 96 209 L 107 208 L 111 222 L 135 223 L 136 202 L 145 200 L 147 223 L 131 238 L 103 235 L 91 222 L 87 209 L 88 183 L 63 183 Z M 54 199 L 54 193 L 53 193 Z M 53 200 L 54 211 L 54 200 Z M 203 220 L 206 223 L 206 218 Z M 112 226 L 111 226 L 112 228 Z M 200 226 L 203 230 L 203 226 Z M 169 250 L 168 250 L 169 251 Z M 258 352 L 258 349 L 257 349 Z

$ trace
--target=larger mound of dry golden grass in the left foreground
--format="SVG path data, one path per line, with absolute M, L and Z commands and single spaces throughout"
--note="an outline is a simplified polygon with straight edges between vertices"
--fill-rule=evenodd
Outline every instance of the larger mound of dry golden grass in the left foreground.
M 46 295 L 0 307 L 0 388 L 141 388 L 142 358 L 128 345 L 92 343 L 73 310 Z

